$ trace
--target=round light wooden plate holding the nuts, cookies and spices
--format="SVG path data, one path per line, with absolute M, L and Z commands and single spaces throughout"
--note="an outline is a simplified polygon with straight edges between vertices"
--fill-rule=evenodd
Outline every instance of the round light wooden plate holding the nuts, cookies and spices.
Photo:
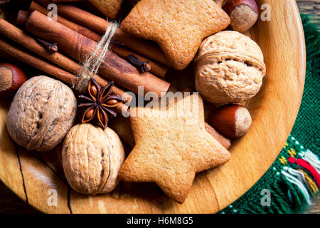
M 6 105 L 0 106 L 1 181 L 47 213 L 213 213 L 227 207 L 276 159 L 294 125 L 304 88 L 304 33 L 296 2 L 261 4 L 269 4 L 271 21 L 259 19 L 250 31 L 267 65 L 262 89 L 248 104 L 252 128 L 233 142 L 229 162 L 196 176 L 186 202 L 173 202 L 152 183 L 121 182 L 112 194 L 95 197 L 73 192 L 59 165 L 59 147 L 55 152 L 28 152 L 9 138 Z

